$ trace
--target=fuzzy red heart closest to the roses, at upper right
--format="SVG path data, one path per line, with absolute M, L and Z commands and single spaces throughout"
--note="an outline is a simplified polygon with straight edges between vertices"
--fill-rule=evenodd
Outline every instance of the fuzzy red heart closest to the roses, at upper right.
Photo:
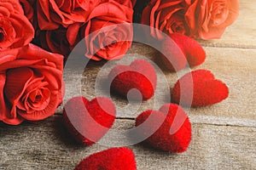
M 183 70 L 187 63 L 194 67 L 205 61 L 206 52 L 200 43 L 179 33 L 172 33 L 170 37 L 162 42 L 161 47 L 161 51 L 166 53 L 161 58 L 170 71 Z

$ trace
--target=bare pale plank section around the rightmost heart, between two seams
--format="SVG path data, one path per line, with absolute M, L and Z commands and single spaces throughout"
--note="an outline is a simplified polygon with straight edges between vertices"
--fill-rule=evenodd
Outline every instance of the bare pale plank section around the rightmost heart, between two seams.
M 210 107 L 193 109 L 191 113 L 218 117 L 256 120 L 256 50 L 206 48 L 207 60 L 196 69 L 207 69 L 230 88 L 228 99 Z

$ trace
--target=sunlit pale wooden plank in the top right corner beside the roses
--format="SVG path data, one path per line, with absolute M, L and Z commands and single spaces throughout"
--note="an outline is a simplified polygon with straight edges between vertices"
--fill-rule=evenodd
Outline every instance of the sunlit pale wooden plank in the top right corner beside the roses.
M 256 48 L 256 23 L 254 0 L 240 0 L 240 14 L 221 39 L 200 41 L 204 46 L 230 48 Z

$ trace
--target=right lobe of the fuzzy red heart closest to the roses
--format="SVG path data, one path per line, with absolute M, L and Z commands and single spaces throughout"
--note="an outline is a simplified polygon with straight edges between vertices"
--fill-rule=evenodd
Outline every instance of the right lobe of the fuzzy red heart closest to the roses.
M 201 65 L 205 61 L 206 52 L 195 39 L 180 33 L 172 33 L 170 37 L 181 48 L 191 67 Z

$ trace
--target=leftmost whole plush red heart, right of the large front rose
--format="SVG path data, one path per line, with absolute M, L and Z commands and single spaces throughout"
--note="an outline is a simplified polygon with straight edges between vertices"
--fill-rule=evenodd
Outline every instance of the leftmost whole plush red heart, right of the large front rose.
M 95 144 L 102 139 L 115 119 L 113 102 L 104 97 L 89 101 L 84 97 L 69 99 L 64 105 L 64 122 L 67 129 L 79 143 Z

